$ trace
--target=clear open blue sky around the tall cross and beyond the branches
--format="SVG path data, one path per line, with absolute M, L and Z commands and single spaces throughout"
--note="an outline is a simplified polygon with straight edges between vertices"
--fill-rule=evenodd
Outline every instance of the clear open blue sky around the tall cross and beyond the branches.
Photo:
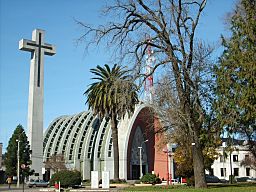
M 235 0 L 208 0 L 197 36 L 220 45 L 228 34 L 225 15 Z M 102 24 L 104 0 L 0 0 L 0 143 L 3 152 L 18 124 L 27 132 L 30 53 L 20 51 L 18 42 L 31 39 L 32 31 L 43 29 L 45 42 L 56 46 L 56 55 L 44 57 L 44 129 L 61 115 L 87 110 L 84 91 L 92 82 L 89 69 L 108 63 L 103 47 L 88 52 L 76 40 L 83 34 L 75 19 Z

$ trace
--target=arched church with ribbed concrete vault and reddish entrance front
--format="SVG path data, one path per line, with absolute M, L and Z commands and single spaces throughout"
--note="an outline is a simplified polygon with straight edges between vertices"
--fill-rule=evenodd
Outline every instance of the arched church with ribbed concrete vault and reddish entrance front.
M 156 147 L 155 130 L 159 121 L 151 108 L 138 105 L 131 117 L 118 123 L 119 177 L 139 179 L 140 149 L 142 147 L 143 174 L 154 171 L 166 177 L 167 159 L 162 149 Z M 56 118 L 44 133 L 43 160 L 63 154 L 68 169 L 78 170 L 83 180 L 90 179 L 91 171 L 109 171 L 113 178 L 113 146 L 109 119 L 100 120 L 92 112 Z M 48 170 L 49 171 L 49 170 Z

